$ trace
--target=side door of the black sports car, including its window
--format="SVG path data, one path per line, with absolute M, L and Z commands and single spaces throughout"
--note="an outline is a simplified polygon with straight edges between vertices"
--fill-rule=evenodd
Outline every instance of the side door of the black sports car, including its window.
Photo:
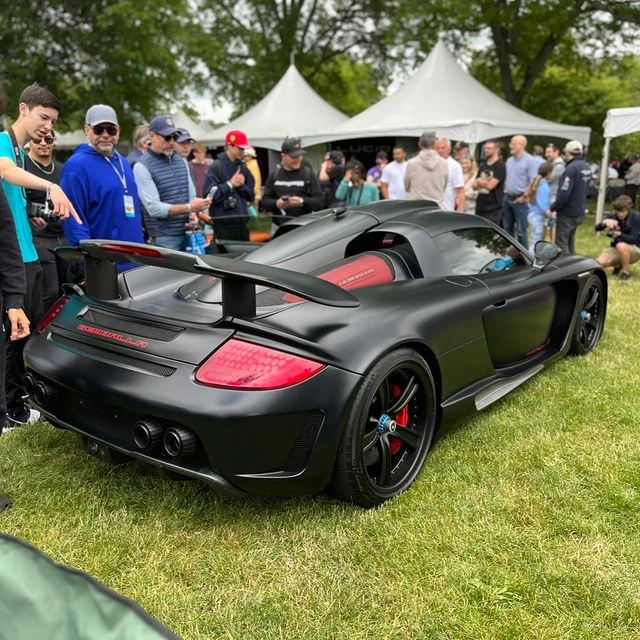
M 525 361 L 548 344 L 555 269 L 534 269 L 531 258 L 493 228 L 448 231 L 435 241 L 453 273 L 477 278 L 491 293 L 482 322 L 497 367 Z

